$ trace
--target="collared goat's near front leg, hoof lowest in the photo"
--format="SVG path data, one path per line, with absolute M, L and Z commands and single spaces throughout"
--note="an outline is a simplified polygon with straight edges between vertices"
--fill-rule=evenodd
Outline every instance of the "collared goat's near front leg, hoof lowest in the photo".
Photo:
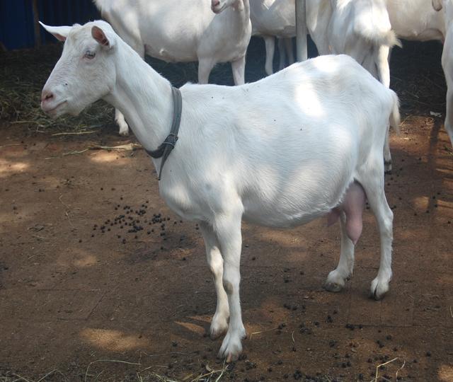
M 222 256 L 224 258 L 223 284 L 228 296 L 229 327 L 219 357 L 226 362 L 236 361 L 242 352 L 241 340 L 246 337 L 241 315 L 241 301 L 239 299 L 239 283 L 241 274 L 239 265 L 241 261 L 241 214 L 224 214 L 214 221 L 214 230 L 217 234 Z

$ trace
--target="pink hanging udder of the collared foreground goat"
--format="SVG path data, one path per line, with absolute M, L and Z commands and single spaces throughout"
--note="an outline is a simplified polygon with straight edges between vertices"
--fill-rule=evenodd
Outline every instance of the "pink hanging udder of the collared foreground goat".
M 360 183 L 352 183 L 346 191 L 343 202 L 340 206 L 334 208 L 327 216 L 327 225 L 331 226 L 336 223 L 340 213 L 343 211 L 346 215 L 346 233 L 352 243 L 356 244 L 362 234 L 362 214 L 365 209 L 367 195 Z

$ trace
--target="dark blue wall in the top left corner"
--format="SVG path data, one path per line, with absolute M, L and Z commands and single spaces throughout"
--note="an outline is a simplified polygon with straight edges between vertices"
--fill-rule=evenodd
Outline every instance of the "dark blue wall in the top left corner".
M 38 0 L 40 21 L 47 25 L 83 24 L 101 18 L 91 0 Z M 41 28 L 42 43 L 55 38 Z M 33 47 L 32 0 L 0 0 L 0 41 L 8 50 Z

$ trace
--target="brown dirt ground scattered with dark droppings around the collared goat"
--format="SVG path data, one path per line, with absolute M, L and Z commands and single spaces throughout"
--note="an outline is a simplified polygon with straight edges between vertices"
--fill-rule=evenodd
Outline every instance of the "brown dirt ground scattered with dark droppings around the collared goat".
M 144 151 L 88 149 L 134 138 L 118 137 L 111 120 L 81 135 L 2 120 L 0 381 L 453 381 L 453 151 L 440 49 L 406 44 L 392 57 L 403 122 L 386 175 L 390 293 L 368 298 L 379 263 L 369 212 L 338 294 L 322 289 L 338 262 L 338 225 L 244 224 L 248 338 L 229 366 L 216 357 L 221 339 L 207 337 L 215 292 L 197 226 L 165 206 Z

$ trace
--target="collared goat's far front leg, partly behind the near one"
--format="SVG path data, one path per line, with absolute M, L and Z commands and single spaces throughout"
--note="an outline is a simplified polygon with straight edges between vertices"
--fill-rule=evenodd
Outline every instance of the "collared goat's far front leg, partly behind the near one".
M 214 279 L 215 291 L 217 293 L 217 308 L 212 317 L 210 328 L 210 337 L 214 340 L 228 330 L 228 296 L 226 296 L 222 283 L 224 260 L 220 254 L 220 246 L 212 226 L 207 223 L 201 223 L 200 230 L 205 239 L 207 264 L 210 267 Z

